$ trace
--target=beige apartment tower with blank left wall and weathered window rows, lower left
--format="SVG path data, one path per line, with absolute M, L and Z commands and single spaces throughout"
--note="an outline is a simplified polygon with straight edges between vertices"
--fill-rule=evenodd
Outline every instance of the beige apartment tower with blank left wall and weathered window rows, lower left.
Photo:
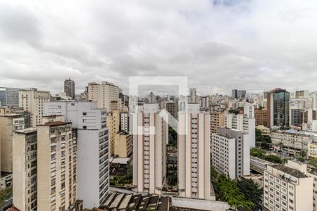
M 68 210 L 76 200 L 77 141 L 72 124 L 47 122 L 37 129 L 37 209 Z

